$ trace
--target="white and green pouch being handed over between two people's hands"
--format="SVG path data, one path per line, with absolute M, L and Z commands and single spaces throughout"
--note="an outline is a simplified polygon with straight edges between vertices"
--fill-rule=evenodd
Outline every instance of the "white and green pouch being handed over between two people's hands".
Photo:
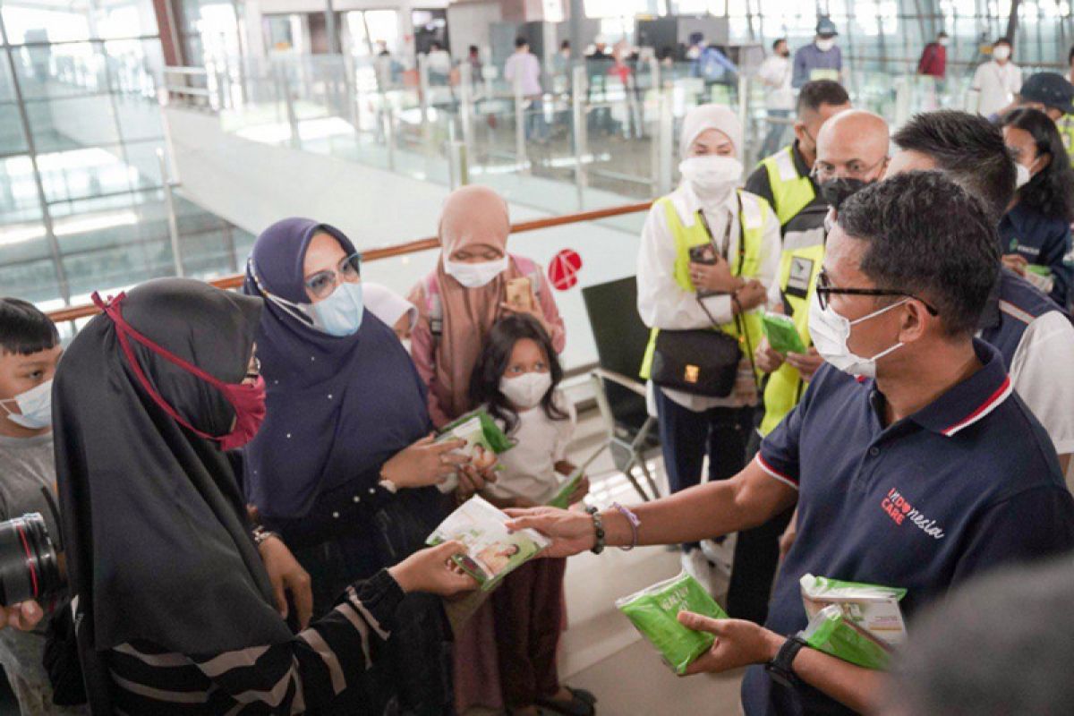
M 505 576 L 551 544 L 533 529 L 509 532 L 508 520 L 507 514 L 475 495 L 449 514 L 425 543 L 459 540 L 465 544 L 466 554 L 456 556 L 455 562 L 478 581 L 482 591 L 492 591 Z

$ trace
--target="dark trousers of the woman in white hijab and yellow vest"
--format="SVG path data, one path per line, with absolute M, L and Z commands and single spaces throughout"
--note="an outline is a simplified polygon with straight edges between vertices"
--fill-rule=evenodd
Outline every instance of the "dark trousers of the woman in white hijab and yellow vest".
M 664 469 L 672 493 L 701 482 L 701 466 L 709 456 L 709 480 L 726 480 L 745 465 L 745 447 L 753 430 L 753 408 L 711 408 L 694 412 L 671 400 L 659 388 L 656 414 L 659 420 Z M 683 544 L 683 550 L 697 547 Z

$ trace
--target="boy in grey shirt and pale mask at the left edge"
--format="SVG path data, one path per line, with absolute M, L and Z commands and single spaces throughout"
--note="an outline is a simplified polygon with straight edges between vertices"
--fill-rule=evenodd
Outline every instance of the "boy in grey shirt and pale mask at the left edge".
M 38 512 L 57 550 L 53 457 L 53 375 L 63 349 L 48 317 L 33 304 L 0 298 L 0 522 Z M 35 601 L 0 610 L 0 663 L 26 716 L 82 714 L 53 703 L 42 666 L 44 612 Z

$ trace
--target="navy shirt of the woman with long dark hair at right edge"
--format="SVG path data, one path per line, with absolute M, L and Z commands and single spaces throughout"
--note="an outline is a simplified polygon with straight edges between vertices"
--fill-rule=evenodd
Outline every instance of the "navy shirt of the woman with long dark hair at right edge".
M 1048 297 L 1066 308 L 1074 282 L 1070 223 L 1017 204 L 1000 221 L 999 235 L 1003 253 L 1017 253 L 1031 264 L 1051 269 L 1055 283 Z

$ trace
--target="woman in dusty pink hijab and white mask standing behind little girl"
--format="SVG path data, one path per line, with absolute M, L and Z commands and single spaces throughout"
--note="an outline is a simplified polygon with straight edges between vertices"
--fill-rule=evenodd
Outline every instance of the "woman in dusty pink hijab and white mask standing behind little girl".
M 540 266 L 507 252 L 510 228 L 507 203 L 492 189 L 453 191 L 440 213 L 440 260 L 407 297 L 418 307 L 413 362 L 429 386 L 429 412 L 438 427 L 470 409 L 470 372 L 499 318 L 534 316 L 563 352 L 566 334 L 551 288 Z M 528 306 L 513 301 L 520 291 L 525 295 L 519 279 L 528 280 Z

